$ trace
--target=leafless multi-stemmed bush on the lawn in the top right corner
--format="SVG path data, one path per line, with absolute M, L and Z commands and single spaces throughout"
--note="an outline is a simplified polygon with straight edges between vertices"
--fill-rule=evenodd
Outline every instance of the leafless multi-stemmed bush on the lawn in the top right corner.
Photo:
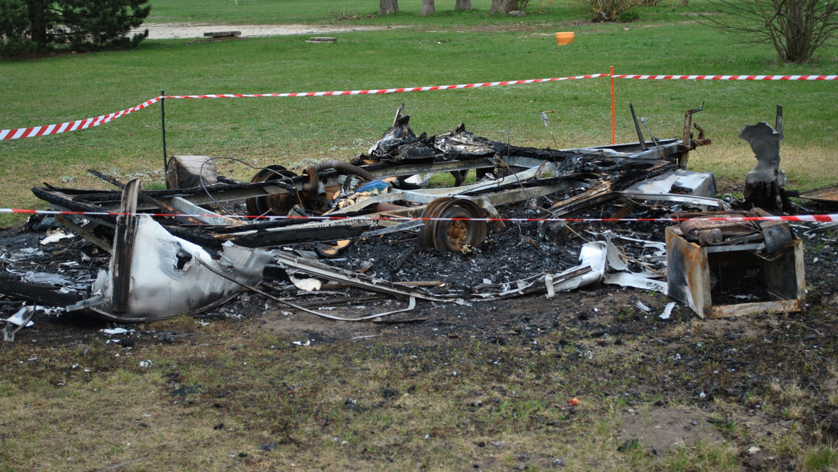
M 743 44 L 773 45 L 780 60 L 804 63 L 835 39 L 838 2 L 833 0 L 710 0 L 721 15 L 702 22 L 733 34 Z

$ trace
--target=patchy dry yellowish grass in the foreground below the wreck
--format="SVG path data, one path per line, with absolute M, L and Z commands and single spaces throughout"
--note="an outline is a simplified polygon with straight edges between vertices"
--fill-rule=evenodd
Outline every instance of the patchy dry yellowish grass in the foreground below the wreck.
M 712 342 L 696 334 L 712 324 L 701 331 L 680 324 L 655 337 Z M 549 469 L 561 459 L 570 470 L 735 470 L 738 452 L 751 444 L 784 464 L 833 460 L 826 438 L 805 429 L 820 398 L 792 378 L 754 385 L 758 395 L 741 402 L 716 397 L 703 407 L 690 390 L 665 393 L 666 384 L 691 379 L 728 383 L 714 373 L 722 370 L 716 362 L 693 371 L 674 361 L 674 352 L 701 355 L 694 340 L 659 345 L 639 335 L 597 347 L 572 328 L 538 336 L 538 350 L 531 341 L 468 337 L 297 346 L 298 338 L 258 326 L 258 319 L 199 326 L 180 317 L 137 326 L 144 334 L 131 348 L 97 333 L 31 345 L 21 335 L 0 353 L 3 424 L 14 425 L 3 431 L 0 465 L 497 470 Z M 163 332 L 189 333 L 188 342 L 153 340 Z M 85 343 L 86 355 L 74 341 Z M 754 342 L 742 340 L 739 349 Z M 587 350 L 596 355 L 588 359 Z M 153 366 L 139 366 L 146 359 Z M 580 400 L 575 407 L 567 404 L 572 397 Z M 696 418 L 715 412 L 724 441 L 657 454 L 645 443 L 625 447 L 618 432 L 629 408 L 653 428 L 650 413 L 660 418 L 668 407 Z M 752 424 L 760 418 L 754 410 L 789 427 Z M 756 435 L 765 428 L 774 433 Z

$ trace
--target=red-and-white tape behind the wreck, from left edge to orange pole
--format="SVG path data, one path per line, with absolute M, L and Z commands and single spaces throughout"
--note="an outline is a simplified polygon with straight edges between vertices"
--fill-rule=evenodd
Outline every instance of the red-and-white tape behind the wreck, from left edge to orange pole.
M 458 86 L 427 86 L 427 87 L 406 87 L 396 89 L 375 89 L 375 90 L 360 90 L 360 91 L 307 91 L 307 92 L 291 92 L 291 93 L 259 93 L 259 94 L 211 94 L 211 95 L 172 95 L 172 96 L 158 96 L 149 101 L 141 103 L 137 106 L 132 106 L 122 112 L 113 112 L 101 117 L 86 118 L 84 120 L 76 120 L 75 122 L 65 122 L 58 125 L 44 125 L 39 127 L 22 127 L 16 129 L 0 130 L 0 141 L 4 139 L 18 139 L 19 137 L 37 137 L 46 136 L 48 134 L 58 134 L 59 132 L 75 131 L 85 129 L 88 127 L 96 127 L 113 119 L 124 117 L 128 113 L 136 112 L 146 106 L 152 105 L 154 102 L 163 98 L 250 98 L 261 96 L 273 97 L 297 97 L 297 96 L 343 96 L 343 95 L 375 95 L 383 93 L 400 93 L 408 91 L 442 91 L 455 89 L 469 89 L 477 87 L 493 87 L 493 86 L 515 86 L 522 84 L 537 84 L 541 82 L 556 82 L 559 80 L 575 80 L 575 79 L 596 79 L 598 77 L 608 77 L 608 74 L 591 74 L 591 75 L 577 75 L 575 77 L 556 77 L 552 79 L 529 79 L 529 80 L 504 80 L 502 82 L 484 82 L 481 84 L 461 84 Z

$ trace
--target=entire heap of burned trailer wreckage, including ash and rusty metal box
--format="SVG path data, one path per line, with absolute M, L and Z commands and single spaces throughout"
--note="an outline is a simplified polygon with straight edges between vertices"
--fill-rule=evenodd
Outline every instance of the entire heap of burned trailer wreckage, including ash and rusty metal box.
M 428 301 L 555 298 L 597 283 L 669 293 L 701 316 L 804 309 L 801 246 L 787 223 L 706 220 L 708 211 L 742 214 L 716 199 L 712 174 L 685 170 L 689 153 L 710 143 L 697 125 L 700 136 L 691 135 L 696 111 L 681 139 L 639 134 L 638 143 L 555 150 L 475 137 L 463 124 L 416 136 L 400 108 L 368 153 L 303 174 L 271 165 L 238 182 L 218 176 L 214 159 L 186 156 L 169 161 L 166 190 L 98 173 L 120 189 L 37 187 L 64 212 L 44 218 L 48 226 L 98 255 L 83 252 L 65 283 L 32 275 L 25 251 L 6 250 L 2 291 L 117 322 L 201 313 L 243 289 L 330 319 L 344 318 L 303 298 L 404 300 L 396 311 L 349 320 Z M 779 195 L 782 183 L 763 187 Z M 667 215 L 685 221 L 616 221 Z M 716 309 L 722 298 L 711 299 L 719 297 L 711 278 L 722 274 L 727 284 L 734 253 L 734 265 L 759 279 L 760 293 L 748 295 L 758 301 Z

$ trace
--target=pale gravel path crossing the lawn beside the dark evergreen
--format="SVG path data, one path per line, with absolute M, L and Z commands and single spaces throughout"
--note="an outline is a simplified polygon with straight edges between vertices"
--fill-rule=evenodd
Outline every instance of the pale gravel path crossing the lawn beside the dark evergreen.
M 344 26 L 340 24 L 218 24 L 218 23 L 143 23 L 132 31 L 141 33 L 148 29 L 148 39 L 203 38 L 204 33 L 241 31 L 242 37 L 283 36 L 287 34 L 330 34 L 349 31 L 385 29 L 375 26 Z

